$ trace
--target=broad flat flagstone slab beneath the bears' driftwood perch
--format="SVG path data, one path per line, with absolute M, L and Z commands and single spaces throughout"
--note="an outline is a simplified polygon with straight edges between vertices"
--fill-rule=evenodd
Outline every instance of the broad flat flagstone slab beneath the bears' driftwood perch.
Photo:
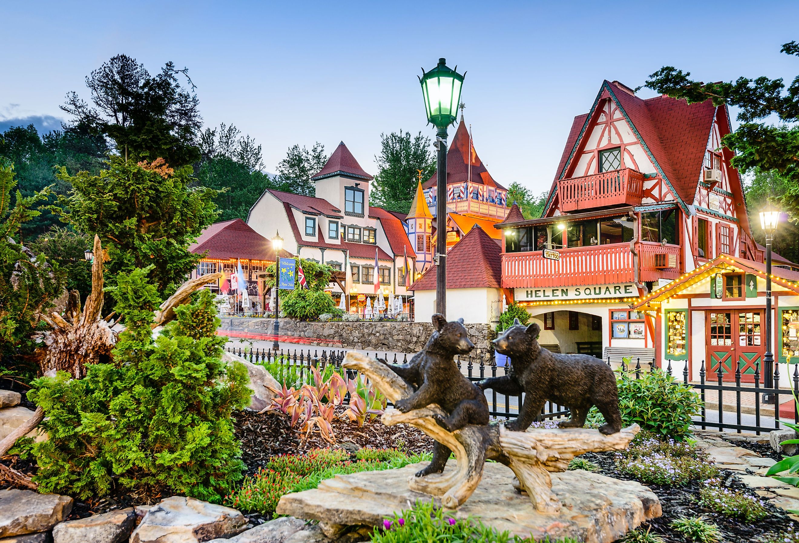
M 439 497 L 408 489 L 408 479 L 426 466 L 419 463 L 399 470 L 336 475 L 319 487 L 280 498 L 277 513 L 327 525 L 379 525 L 385 517 L 410 509 L 416 501 Z M 442 477 L 454 470 L 448 466 Z M 540 513 L 530 498 L 512 486 L 513 472 L 488 462 L 475 493 L 451 514 L 455 518 L 479 517 L 499 531 L 520 537 L 574 537 L 586 543 L 610 543 L 642 522 L 662 514 L 658 497 L 646 486 L 619 481 L 583 470 L 552 473 L 552 491 L 562 502 L 559 513 Z

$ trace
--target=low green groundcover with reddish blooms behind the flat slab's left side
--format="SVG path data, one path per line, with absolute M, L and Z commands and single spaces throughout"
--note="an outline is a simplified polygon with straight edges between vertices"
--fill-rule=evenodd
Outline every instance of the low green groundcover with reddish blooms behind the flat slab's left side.
M 345 450 L 281 454 L 270 458 L 255 475 L 245 478 L 240 488 L 225 496 L 225 504 L 246 513 L 272 515 L 281 496 L 315 489 L 324 479 L 358 471 L 392 470 L 431 458 L 431 454 L 406 455 L 396 449 L 361 449 L 356 452 L 355 462 Z

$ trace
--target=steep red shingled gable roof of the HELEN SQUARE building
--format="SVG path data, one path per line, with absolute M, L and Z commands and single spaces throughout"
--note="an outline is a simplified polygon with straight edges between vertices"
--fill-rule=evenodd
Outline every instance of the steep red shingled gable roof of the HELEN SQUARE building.
M 624 89 L 623 85 L 610 81 L 602 82 L 597 103 L 604 97 L 614 99 L 630 118 L 642 143 L 650 150 L 666 180 L 677 192 L 676 196 L 684 203 L 692 204 L 716 113 L 714 105 L 710 101 L 688 104 L 667 96 L 642 100 Z M 720 107 L 723 109 L 723 106 Z M 570 157 L 574 158 L 577 154 L 573 156 L 572 152 L 574 146 L 578 145 L 578 137 L 587 118 L 588 113 L 574 117 L 558 171 L 555 172 L 551 195 Z M 586 130 L 583 136 L 589 132 Z

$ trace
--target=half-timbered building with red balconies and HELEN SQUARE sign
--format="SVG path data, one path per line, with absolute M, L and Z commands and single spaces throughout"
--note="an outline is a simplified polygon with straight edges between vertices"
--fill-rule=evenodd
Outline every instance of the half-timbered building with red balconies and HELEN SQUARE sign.
M 638 299 L 718 256 L 762 261 L 721 146 L 729 132 L 725 106 L 602 83 L 574 118 L 543 216 L 524 220 L 511 208 L 496 227 L 503 287 L 539 321 L 540 343 L 617 361 L 662 358 L 662 315 L 632 307 Z M 688 346 L 671 348 L 682 356 Z

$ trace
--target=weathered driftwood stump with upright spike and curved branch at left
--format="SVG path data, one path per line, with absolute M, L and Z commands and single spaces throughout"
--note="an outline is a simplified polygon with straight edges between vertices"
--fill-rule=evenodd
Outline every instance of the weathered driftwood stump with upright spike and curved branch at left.
M 110 316 L 103 319 L 103 264 L 100 238 L 94 236 L 93 252 L 97 257 L 92 263 L 92 291 L 81 311 L 78 291 L 70 291 L 64 315 L 52 312 L 40 315 L 50 324 L 52 331 L 42 334 L 42 347 L 37 349 L 37 358 L 42 373 L 68 371 L 75 379 L 85 375 L 85 365 L 108 361 L 111 350 L 117 343 L 117 331 L 112 329 Z M 185 303 L 193 291 L 221 277 L 221 273 L 203 275 L 189 279 L 155 311 L 153 328 L 162 326 L 175 318 L 175 307 Z

